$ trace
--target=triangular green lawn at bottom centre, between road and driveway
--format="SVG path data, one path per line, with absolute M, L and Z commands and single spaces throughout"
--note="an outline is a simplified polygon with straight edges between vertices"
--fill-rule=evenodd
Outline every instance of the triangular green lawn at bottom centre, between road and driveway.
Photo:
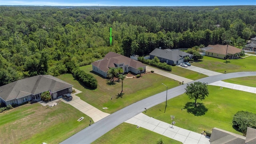
M 165 144 L 182 144 L 145 128 L 136 128 L 133 124 L 122 123 L 110 130 L 92 144 L 156 144 L 162 138 Z

